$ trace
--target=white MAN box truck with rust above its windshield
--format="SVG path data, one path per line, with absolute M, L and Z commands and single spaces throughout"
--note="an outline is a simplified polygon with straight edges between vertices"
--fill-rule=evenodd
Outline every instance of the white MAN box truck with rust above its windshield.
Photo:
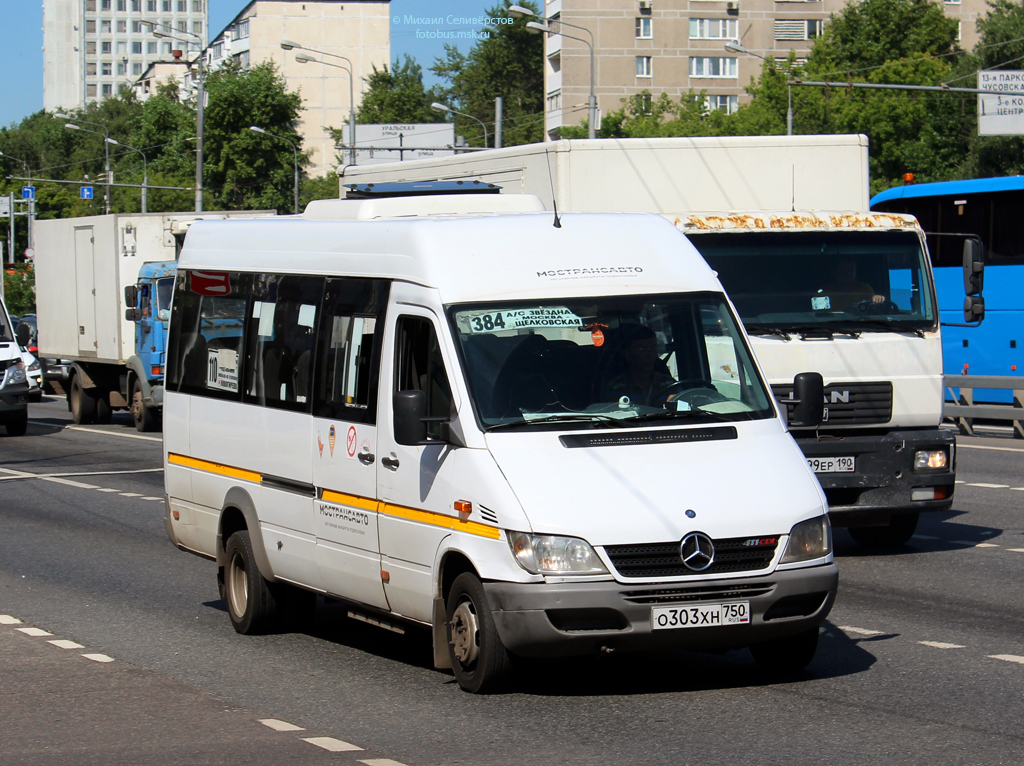
M 833 522 L 894 546 L 921 511 L 950 507 L 927 246 L 912 218 L 867 212 L 866 136 L 562 140 L 349 167 L 341 182 L 428 180 L 497 184 L 558 211 L 665 215 L 719 272 L 775 395 L 798 372 L 823 376 L 827 420 L 793 432 Z

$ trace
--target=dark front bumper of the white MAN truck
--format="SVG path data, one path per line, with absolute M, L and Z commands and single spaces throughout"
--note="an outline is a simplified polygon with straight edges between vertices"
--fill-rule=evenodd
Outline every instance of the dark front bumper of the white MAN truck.
M 956 436 L 940 429 L 908 429 L 884 434 L 833 434 L 815 437 L 793 434 L 808 458 L 853 457 L 856 471 L 818 473 L 828 500 L 833 526 L 886 523 L 894 513 L 944 511 L 952 505 L 956 477 Z M 913 455 L 920 450 L 949 451 L 948 470 L 914 471 Z M 914 500 L 914 491 L 935 488 L 940 499 Z

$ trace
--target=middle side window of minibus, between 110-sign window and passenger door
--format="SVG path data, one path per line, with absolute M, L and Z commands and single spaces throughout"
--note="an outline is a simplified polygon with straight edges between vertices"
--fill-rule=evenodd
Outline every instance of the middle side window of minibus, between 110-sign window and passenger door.
M 246 332 L 246 401 L 309 412 L 323 294 L 322 276 L 253 276 Z

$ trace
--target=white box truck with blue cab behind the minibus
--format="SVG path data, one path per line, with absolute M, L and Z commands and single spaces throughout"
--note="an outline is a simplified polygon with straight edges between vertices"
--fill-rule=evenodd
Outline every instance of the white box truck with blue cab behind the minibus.
M 160 427 L 175 259 L 196 220 L 242 213 L 112 214 L 36 222 L 36 303 L 43 357 L 71 361 L 75 423 L 129 409 Z

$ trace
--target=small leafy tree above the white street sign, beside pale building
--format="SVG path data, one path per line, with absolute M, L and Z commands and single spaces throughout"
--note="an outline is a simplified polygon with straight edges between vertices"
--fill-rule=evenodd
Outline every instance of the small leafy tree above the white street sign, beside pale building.
M 444 117 L 430 109 L 436 100 L 434 90 L 423 87 L 423 68 L 406 54 L 404 62 L 395 59 L 367 78 L 367 91 L 356 115 L 356 122 L 370 124 L 443 122 Z

